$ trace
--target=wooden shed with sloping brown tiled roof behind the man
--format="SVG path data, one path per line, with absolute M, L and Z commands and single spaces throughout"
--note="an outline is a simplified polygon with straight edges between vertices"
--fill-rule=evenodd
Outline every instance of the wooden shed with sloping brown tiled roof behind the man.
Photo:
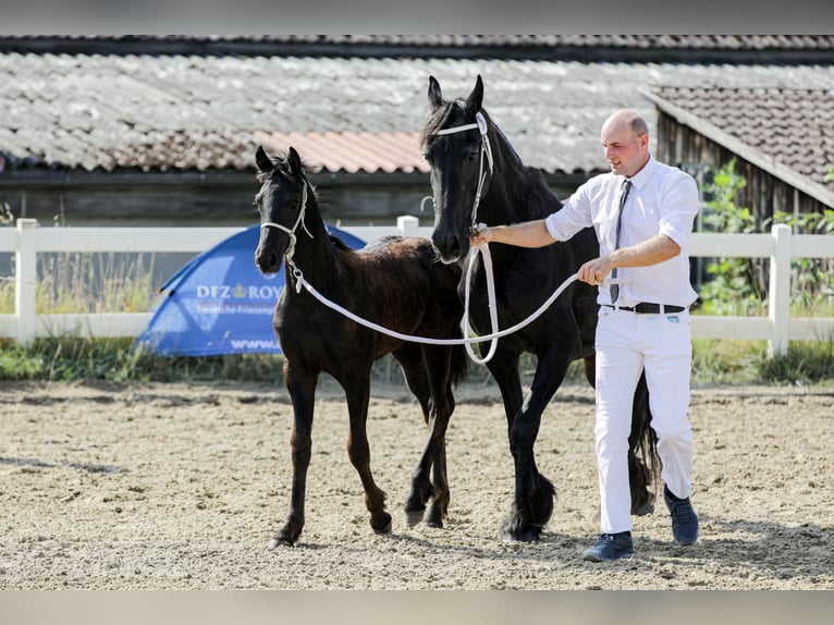
M 658 158 L 701 172 L 735 159 L 746 181 L 736 205 L 758 230 L 778 212 L 834 210 L 834 89 L 670 87 L 647 97 L 658 108 Z

